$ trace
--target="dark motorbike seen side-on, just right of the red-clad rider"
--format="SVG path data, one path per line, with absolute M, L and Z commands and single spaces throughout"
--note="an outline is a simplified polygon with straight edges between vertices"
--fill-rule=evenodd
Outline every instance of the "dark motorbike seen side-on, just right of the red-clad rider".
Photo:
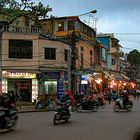
M 81 102 L 76 103 L 76 110 L 77 112 L 81 112 L 83 110 L 91 110 L 96 112 L 98 110 L 99 103 L 98 101 L 89 101 L 87 99 L 82 99 Z

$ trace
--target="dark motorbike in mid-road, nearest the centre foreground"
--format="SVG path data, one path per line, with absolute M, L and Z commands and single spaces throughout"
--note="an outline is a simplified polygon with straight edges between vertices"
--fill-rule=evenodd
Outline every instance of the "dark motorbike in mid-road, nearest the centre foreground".
M 55 115 L 53 118 L 54 125 L 58 125 L 62 121 L 68 122 L 71 116 L 70 101 L 66 101 L 65 103 L 58 103 L 58 105 L 60 105 L 60 107 L 55 110 Z

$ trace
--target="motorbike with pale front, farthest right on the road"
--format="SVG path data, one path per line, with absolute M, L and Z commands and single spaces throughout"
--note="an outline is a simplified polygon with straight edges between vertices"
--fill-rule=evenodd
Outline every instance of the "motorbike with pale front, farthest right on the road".
M 113 110 L 115 112 L 118 112 L 121 110 L 126 110 L 126 111 L 130 112 L 132 110 L 132 107 L 133 107 L 133 102 L 131 100 L 128 100 L 128 102 L 125 103 L 125 105 L 123 105 L 123 100 L 121 98 L 118 98 L 115 100 Z

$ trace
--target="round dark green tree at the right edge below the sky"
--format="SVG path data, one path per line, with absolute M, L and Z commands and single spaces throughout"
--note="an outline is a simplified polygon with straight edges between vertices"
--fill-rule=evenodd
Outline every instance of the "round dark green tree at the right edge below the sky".
M 127 56 L 128 62 L 134 66 L 137 67 L 140 65 L 140 52 L 137 50 L 131 51 Z

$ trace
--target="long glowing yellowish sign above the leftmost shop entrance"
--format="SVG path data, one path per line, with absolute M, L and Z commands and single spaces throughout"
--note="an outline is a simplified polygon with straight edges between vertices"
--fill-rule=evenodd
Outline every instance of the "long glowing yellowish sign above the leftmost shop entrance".
M 36 78 L 36 74 L 35 73 L 2 71 L 2 77 L 3 78 L 28 78 L 28 79 L 33 79 L 33 78 Z

